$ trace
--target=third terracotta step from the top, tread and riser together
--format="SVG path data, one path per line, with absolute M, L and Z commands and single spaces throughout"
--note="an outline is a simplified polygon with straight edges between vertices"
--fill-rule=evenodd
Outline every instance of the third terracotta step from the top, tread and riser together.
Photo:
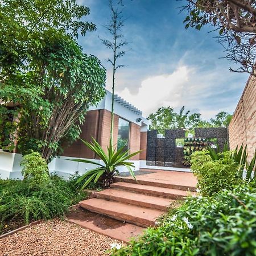
M 174 200 L 163 197 L 148 196 L 139 193 L 132 193 L 127 190 L 117 190 L 112 188 L 97 192 L 96 197 L 98 199 L 118 201 L 121 203 L 158 210 L 167 210 L 168 206 L 174 202 Z

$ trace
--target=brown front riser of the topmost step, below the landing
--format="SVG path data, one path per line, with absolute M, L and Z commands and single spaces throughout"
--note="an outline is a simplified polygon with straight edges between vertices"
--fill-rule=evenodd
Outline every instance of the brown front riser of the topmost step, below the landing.
M 157 181 L 148 181 L 148 180 L 134 180 L 134 179 L 126 179 L 124 177 L 114 177 L 114 182 L 127 182 L 133 184 L 141 184 L 141 185 L 149 185 L 159 188 L 173 188 L 173 189 L 180 189 L 184 191 L 192 191 L 195 192 L 195 187 L 187 187 L 183 185 L 175 185 L 175 184 L 168 184 L 168 183 L 160 183 Z

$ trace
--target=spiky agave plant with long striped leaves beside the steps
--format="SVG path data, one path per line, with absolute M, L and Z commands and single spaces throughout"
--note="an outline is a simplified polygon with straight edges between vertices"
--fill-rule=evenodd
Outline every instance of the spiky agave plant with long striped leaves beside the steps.
M 75 162 L 95 164 L 97 166 L 97 168 L 86 172 L 77 180 L 77 184 L 83 180 L 86 180 L 81 189 L 84 189 L 91 181 L 97 183 L 98 180 L 101 181 L 102 187 L 109 187 L 110 184 L 113 183 L 113 176 L 115 174 L 119 175 L 117 170 L 118 166 L 125 166 L 130 172 L 131 176 L 136 179 L 132 170 L 132 168 L 135 167 L 134 163 L 127 162 L 127 160 L 134 155 L 139 154 L 142 150 L 136 151 L 133 154 L 129 154 L 129 150 L 124 150 L 125 146 L 117 150 L 116 147 L 113 147 L 112 138 L 110 137 L 109 147 L 107 153 L 105 153 L 103 148 L 95 139 L 92 138 L 92 142 L 90 143 L 83 140 L 81 141 L 104 162 L 104 164 L 100 164 L 91 160 L 72 159 L 72 161 Z

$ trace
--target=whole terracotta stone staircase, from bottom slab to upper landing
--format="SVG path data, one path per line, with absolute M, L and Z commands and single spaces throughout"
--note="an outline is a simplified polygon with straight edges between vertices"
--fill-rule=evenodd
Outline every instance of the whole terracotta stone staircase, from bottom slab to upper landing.
M 143 228 L 155 226 L 156 219 L 164 214 L 175 200 L 183 200 L 195 193 L 196 179 L 191 173 L 171 171 L 154 172 L 133 177 L 115 177 L 109 189 L 94 192 L 93 197 L 80 202 L 80 207 L 102 218 L 122 223 L 118 229 L 111 226 L 99 232 L 98 225 L 86 220 L 69 221 L 105 234 L 117 240 L 129 241 L 142 233 Z M 94 226 L 95 227 L 94 227 Z M 118 233 L 119 232 L 119 233 Z

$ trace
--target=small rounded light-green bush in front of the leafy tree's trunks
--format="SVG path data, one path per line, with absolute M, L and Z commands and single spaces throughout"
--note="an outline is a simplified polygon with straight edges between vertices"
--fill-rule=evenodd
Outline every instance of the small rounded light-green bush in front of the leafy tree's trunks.
M 32 151 L 25 155 L 20 165 L 24 166 L 22 175 L 24 180 L 30 179 L 30 185 L 41 185 L 49 180 L 47 162 L 39 152 Z

